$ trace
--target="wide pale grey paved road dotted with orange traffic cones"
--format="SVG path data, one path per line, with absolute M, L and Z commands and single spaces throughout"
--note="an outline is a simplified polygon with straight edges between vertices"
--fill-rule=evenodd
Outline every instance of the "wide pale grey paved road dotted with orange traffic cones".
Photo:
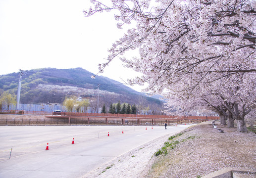
M 131 149 L 189 126 L 0 126 L 0 178 L 80 178 Z

